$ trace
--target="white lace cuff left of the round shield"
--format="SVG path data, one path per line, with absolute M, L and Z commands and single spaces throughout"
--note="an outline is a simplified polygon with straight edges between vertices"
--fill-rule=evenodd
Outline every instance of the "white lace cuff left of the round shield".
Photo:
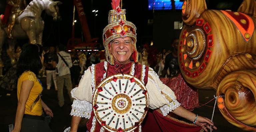
M 92 104 L 83 100 L 74 99 L 72 104 L 72 110 L 70 115 L 85 117 L 89 119 L 91 117 Z

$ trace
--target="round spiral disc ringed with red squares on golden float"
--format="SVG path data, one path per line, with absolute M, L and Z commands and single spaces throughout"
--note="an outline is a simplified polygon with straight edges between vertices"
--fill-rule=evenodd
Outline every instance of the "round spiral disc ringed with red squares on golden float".
M 208 34 L 211 27 L 204 20 L 198 19 L 191 29 L 184 26 L 179 45 L 179 64 L 186 77 L 196 78 L 209 62 L 213 46 L 213 34 Z

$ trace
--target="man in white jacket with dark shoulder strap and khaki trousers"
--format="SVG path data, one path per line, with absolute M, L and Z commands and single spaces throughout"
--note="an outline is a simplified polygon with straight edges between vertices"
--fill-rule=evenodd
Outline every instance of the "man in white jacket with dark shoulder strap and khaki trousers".
M 69 68 L 72 67 L 72 60 L 69 53 L 65 52 L 64 45 L 58 45 L 57 47 L 57 54 L 58 54 L 58 76 L 57 76 L 57 88 L 58 88 L 58 100 L 59 106 L 62 107 L 64 105 L 64 96 L 63 96 L 63 86 L 67 88 L 67 92 L 71 101 L 70 91 L 72 90 L 72 82 L 71 82 L 71 75 Z

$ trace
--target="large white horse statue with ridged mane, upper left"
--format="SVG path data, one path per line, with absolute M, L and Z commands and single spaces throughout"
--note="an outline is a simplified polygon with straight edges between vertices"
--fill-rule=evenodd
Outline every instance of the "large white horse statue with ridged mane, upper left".
M 58 5 L 60 1 L 52 0 L 32 0 L 25 8 L 23 13 L 17 18 L 14 29 L 14 38 L 29 38 L 32 44 L 42 44 L 42 33 L 44 30 L 44 21 L 41 18 L 41 13 L 46 10 L 48 15 L 53 16 L 53 20 L 60 20 Z M 0 21 L 1 25 L 1 21 Z M 6 38 L 7 27 L 0 28 L 0 47 Z

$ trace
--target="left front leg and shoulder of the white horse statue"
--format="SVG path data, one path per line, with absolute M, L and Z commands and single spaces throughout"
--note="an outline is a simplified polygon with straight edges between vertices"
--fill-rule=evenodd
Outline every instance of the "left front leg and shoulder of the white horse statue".
M 29 41 L 31 44 L 35 44 L 36 41 L 36 21 L 29 18 L 29 17 L 24 17 L 21 19 L 21 28 L 27 33 Z

